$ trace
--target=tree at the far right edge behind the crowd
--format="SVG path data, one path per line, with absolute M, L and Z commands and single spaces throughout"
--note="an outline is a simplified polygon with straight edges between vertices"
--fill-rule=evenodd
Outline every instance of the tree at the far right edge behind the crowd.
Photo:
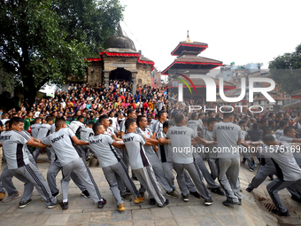
M 271 78 L 278 84 L 281 91 L 291 94 L 301 89 L 301 44 L 296 51 L 284 53 L 270 61 Z

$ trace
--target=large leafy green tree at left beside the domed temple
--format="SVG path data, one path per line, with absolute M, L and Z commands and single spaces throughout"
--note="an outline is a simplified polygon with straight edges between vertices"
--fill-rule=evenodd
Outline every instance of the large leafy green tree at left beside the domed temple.
M 29 102 L 45 83 L 83 78 L 84 58 L 99 53 L 122 11 L 118 0 L 1 1 L 0 70 L 12 76 Z

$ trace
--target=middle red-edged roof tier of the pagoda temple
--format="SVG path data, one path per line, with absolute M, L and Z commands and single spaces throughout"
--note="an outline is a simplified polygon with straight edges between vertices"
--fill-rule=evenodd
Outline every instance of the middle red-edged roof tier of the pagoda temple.
M 222 62 L 212 58 L 197 57 L 192 55 L 182 55 L 174 59 L 174 62 L 168 66 L 162 74 L 167 75 L 169 70 L 180 69 L 203 69 L 212 70 L 215 67 L 222 66 Z

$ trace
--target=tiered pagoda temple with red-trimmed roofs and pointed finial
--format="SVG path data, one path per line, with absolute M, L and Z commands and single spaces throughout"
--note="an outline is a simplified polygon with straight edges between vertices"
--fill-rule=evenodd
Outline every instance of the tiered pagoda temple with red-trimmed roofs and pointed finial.
M 212 58 L 198 56 L 208 48 L 207 43 L 191 42 L 189 34 L 187 40 L 180 42 L 172 51 L 172 56 L 177 56 L 174 62 L 167 66 L 162 75 L 168 75 L 168 84 L 165 88 L 170 93 L 178 93 L 178 88 L 183 88 L 184 100 L 202 100 L 205 102 L 205 81 L 199 78 L 199 75 L 208 74 L 212 69 L 222 66 L 222 62 Z M 219 93 L 219 80 L 212 78 L 216 83 L 216 93 Z M 188 81 L 188 82 L 186 82 Z M 189 84 L 190 83 L 190 84 Z M 192 92 L 190 87 L 194 88 Z M 224 90 L 235 89 L 235 85 L 230 82 L 224 82 Z M 219 95 L 218 95 L 219 96 Z

